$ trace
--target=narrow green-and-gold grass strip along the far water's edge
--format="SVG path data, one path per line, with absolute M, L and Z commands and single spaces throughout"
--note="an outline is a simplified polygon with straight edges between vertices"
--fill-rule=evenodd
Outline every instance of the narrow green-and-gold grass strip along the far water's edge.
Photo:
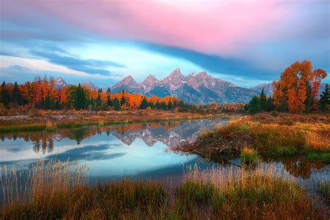
M 96 126 L 106 126 L 106 125 L 122 125 L 122 124 L 131 124 L 131 123 L 157 123 L 163 121 L 178 121 L 178 120 L 198 120 L 203 118 L 211 118 L 211 115 L 189 115 L 189 116 L 177 116 L 177 117 L 167 117 L 167 116 L 159 116 L 158 118 L 150 118 L 150 119 L 113 119 L 109 120 L 107 117 L 97 118 L 93 120 L 93 118 L 86 118 L 84 122 L 81 121 L 46 121 L 43 123 L 29 123 L 29 124 L 13 124 L 13 125 L 1 125 L 0 126 L 0 134 L 10 133 L 10 132 L 33 132 L 33 131 L 42 131 L 49 130 L 52 131 L 57 128 L 70 128 L 70 127 L 83 127 L 88 125 L 96 125 Z M 148 116 L 146 117 L 148 118 Z

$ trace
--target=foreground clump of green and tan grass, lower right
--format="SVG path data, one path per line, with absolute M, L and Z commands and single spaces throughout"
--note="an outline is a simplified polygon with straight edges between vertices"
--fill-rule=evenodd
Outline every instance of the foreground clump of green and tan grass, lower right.
M 207 210 L 199 216 L 206 219 L 317 217 L 306 191 L 296 180 L 281 177 L 280 172 L 267 166 L 254 170 L 212 168 L 207 172 L 194 169 L 177 189 L 175 207 L 187 218 L 197 217 L 201 210 Z

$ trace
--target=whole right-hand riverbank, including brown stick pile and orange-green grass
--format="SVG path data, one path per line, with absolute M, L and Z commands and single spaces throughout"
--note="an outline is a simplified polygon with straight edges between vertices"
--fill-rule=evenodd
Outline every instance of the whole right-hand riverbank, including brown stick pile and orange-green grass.
M 330 164 L 330 114 L 244 116 L 175 150 L 219 161 L 238 157 L 246 148 L 267 159 L 302 156 Z

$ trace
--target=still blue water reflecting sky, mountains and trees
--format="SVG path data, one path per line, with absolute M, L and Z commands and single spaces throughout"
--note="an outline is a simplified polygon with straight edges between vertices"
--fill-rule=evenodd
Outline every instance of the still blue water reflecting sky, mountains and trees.
M 201 169 L 217 165 L 197 155 L 171 150 L 182 142 L 195 141 L 201 132 L 223 126 L 227 120 L 189 120 L 164 123 L 135 123 L 109 127 L 79 127 L 56 132 L 21 132 L 0 135 L 0 166 L 24 168 L 38 159 L 56 159 L 79 164 L 87 162 L 90 181 L 107 182 L 122 178 L 157 180 L 179 184 L 187 166 Z M 330 178 L 330 166 L 302 158 L 264 159 L 297 178 L 309 190 L 315 182 Z M 223 166 L 239 166 L 233 159 Z M 1 173 L 2 175 L 3 173 Z

